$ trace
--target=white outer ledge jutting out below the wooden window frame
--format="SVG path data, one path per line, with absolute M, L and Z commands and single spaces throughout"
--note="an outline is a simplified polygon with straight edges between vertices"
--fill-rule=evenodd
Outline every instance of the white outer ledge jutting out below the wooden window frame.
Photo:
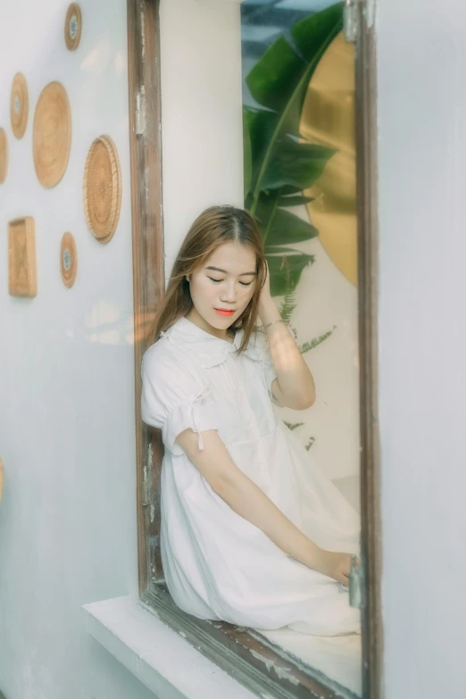
M 256 699 L 134 597 L 82 609 L 87 632 L 159 699 Z

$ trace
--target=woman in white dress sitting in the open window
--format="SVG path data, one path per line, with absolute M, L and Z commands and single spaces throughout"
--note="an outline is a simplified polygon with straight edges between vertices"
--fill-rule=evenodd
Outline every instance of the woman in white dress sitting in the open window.
M 162 429 L 161 553 L 175 603 L 245 627 L 359 632 L 347 591 L 358 516 L 273 411 L 310 407 L 314 381 L 247 212 L 214 206 L 196 219 L 154 340 L 142 416 Z

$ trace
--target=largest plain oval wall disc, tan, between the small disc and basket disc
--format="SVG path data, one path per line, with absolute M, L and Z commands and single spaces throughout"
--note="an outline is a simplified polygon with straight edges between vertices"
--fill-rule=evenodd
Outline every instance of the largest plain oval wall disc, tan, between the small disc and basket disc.
M 65 88 L 50 82 L 37 100 L 33 152 L 37 178 L 44 187 L 62 179 L 71 147 L 71 109 Z

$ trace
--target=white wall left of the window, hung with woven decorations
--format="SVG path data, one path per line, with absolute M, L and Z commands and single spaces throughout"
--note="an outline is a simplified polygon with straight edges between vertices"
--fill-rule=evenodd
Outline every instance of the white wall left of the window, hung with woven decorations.
M 137 588 L 132 263 L 125 0 L 79 0 L 83 34 L 64 46 L 66 0 L 3 3 L 0 125 L 10 146 L 0 186 L 0 690 L 7 699 L 152 696 L 81 627 L 83 603 Z M 8 6 L 7 6 L 8 5 Z M 12 136 L 16 71 L 29 84 L 25 136 Z M 37 97 L 60 80 L 71 102 L 62 182 L 32 161 Z M 121 219 L 108 245 L 87 230 L 82 176 L 102 133 L 121 158 Z M 8 295 L 7 221 L 33 216 L 37 297 Z M 74 287 L 59 270 L 62 234 L 78 247 Z

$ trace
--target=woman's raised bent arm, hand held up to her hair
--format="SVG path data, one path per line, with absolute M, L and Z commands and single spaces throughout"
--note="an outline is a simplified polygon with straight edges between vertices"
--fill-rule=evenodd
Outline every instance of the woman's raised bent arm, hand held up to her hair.
M 264 326 L 281 317 L 270 296 L 269 273 L 262 288 L 258 312 Z M 314 379 L 295 343 L 295 338 L 284 323 L 273 323 L 265 332 L 269 339 L 273 365 L 277 371 L 278 380 L 272 382 L 273 395 L 284 407 L 294 410 L 310 408 L 315 401 Z

